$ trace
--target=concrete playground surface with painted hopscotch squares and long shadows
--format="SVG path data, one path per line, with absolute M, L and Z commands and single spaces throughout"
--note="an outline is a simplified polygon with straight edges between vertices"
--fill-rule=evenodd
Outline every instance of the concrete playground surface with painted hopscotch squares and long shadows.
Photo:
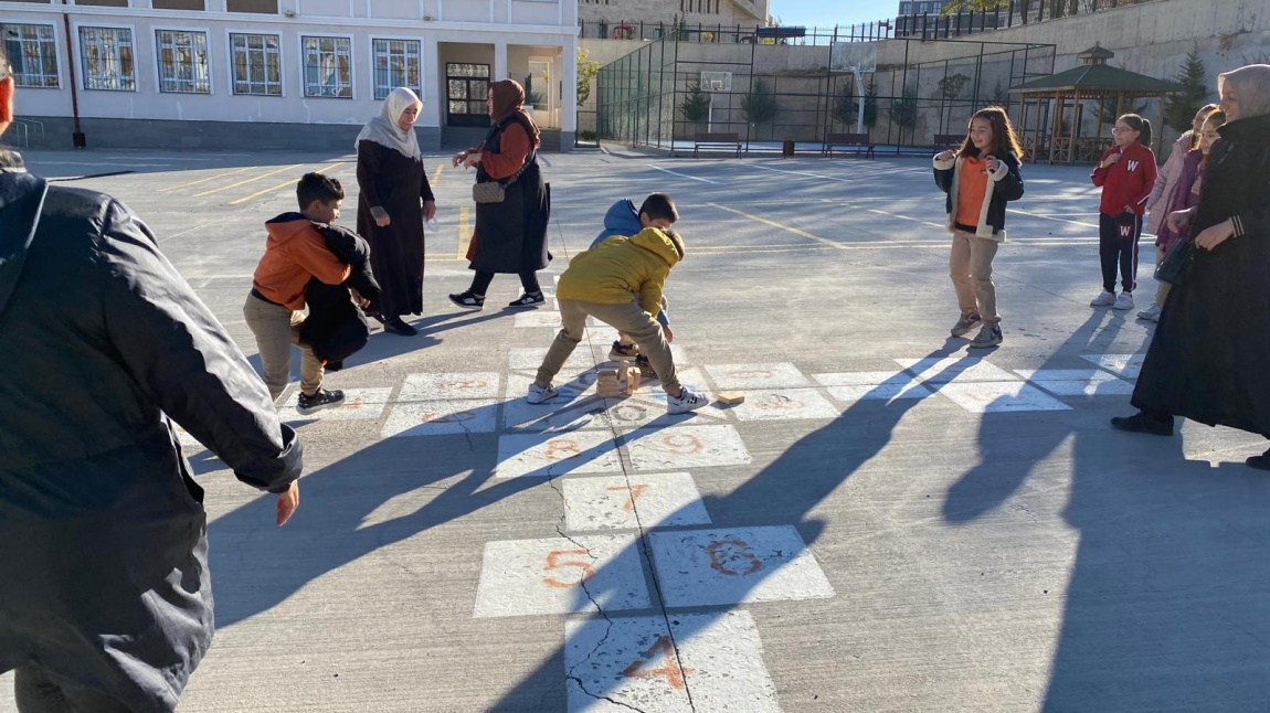
M 128 203 L 249 355 L 262 223 L 298 175 L 339 178 L 356 223 L 348 155 L 28 160 Z M 187 443 L 218 631 L 182 712 L 1270 708 L 1270 478 L 1242 462 L 1266 444 L 1107 426 L 1153 325 L 1088 307 L 1087 169 L 1025 165 L 994 263 L 1005 344 L 970 351 L 926 159 L 544 162 L 549 292 L 613 200 L 671 193 L 682 378 L 745 402 L 597 398 L 613 334 L 593 325 L 566 395 L 526 405 L 554 301 L 503 310 L 513 275 L 481 312 L 446 301 L 472 179 L 429 157 L 420 334 L 376 329 L 328 374 L 342 409 L 279 402 L 306 449 L 295 519 L 273 528 L 271 496 Z

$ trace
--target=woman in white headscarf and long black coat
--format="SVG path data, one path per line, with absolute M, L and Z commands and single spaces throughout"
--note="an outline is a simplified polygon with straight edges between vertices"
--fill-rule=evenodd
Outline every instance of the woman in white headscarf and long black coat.
M 357 134 L 357 232 L 371 244 L 371 268 L 384 288 L 385 331 L 418 334 L 403 315 L 423 312 L 423 222 L 437 213 L 419 155 L 414 121 L 423 103 L 400 86 Z

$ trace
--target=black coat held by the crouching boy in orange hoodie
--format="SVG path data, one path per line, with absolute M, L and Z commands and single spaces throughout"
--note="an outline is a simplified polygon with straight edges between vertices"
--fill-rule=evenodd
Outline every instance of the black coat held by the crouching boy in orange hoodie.
M 326 284 L 318 278 L 305 288 L 309 316 L 300 327 L 300 341 L 314 350 L 314 356 L 326 362 L 328 370 L 343 367 L 370 340 L 366 315 L 353 304 L 349 288 L 371 301 L 368 311 L 380 304 L 380 285 L 371 274 L 371 247 L 357 233 L 339 227 L 314 223 L 335 258 L 352 268 L 344 284 Z

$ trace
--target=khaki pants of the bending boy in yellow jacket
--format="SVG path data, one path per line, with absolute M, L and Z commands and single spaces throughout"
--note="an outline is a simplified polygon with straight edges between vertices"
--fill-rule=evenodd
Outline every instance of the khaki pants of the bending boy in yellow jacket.
M 598 302 L 580 302 L 577 299 L 558 299 L 560 306 L 560 321 L 564 326 L 551 343 L 551 349 L 538 367 L 536 383 L 546 386 L 551 383 L 565 360 L 582 341 L 583 331 L 587 329 L 587 317 L 592 316 L 616 329 L 618 332 L 630 336 L 639 345 L 640 354 L 648 356 L 649 365 L 662 379 L 662 388 L 672 396 L 678 396 L 682 387 L 679 378 L 674 373 L 674 359 L 671 356 L 671 345 L 665 343 L 662 325 L 640 308 L 639 302 L 624 302 L 621 304 L 602 304 Z

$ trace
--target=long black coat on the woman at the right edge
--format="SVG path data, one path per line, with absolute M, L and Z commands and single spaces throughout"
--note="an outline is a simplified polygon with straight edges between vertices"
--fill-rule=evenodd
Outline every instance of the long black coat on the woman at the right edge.
M 1218 131 L 1190 239 L 1228 218 L 1242 235 L 1170 291 L 1133 405 L 1270 438 L 1270 115 Z

